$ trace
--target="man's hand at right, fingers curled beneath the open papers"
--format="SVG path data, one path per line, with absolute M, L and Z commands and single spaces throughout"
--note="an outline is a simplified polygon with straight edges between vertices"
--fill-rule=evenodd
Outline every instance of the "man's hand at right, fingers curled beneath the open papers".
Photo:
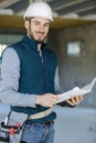
M 66 102 L 71 106 L 77 106 L 83 101 L 83 96 L 76 96 L 72 97 L 71 99 L 67 99 Z

